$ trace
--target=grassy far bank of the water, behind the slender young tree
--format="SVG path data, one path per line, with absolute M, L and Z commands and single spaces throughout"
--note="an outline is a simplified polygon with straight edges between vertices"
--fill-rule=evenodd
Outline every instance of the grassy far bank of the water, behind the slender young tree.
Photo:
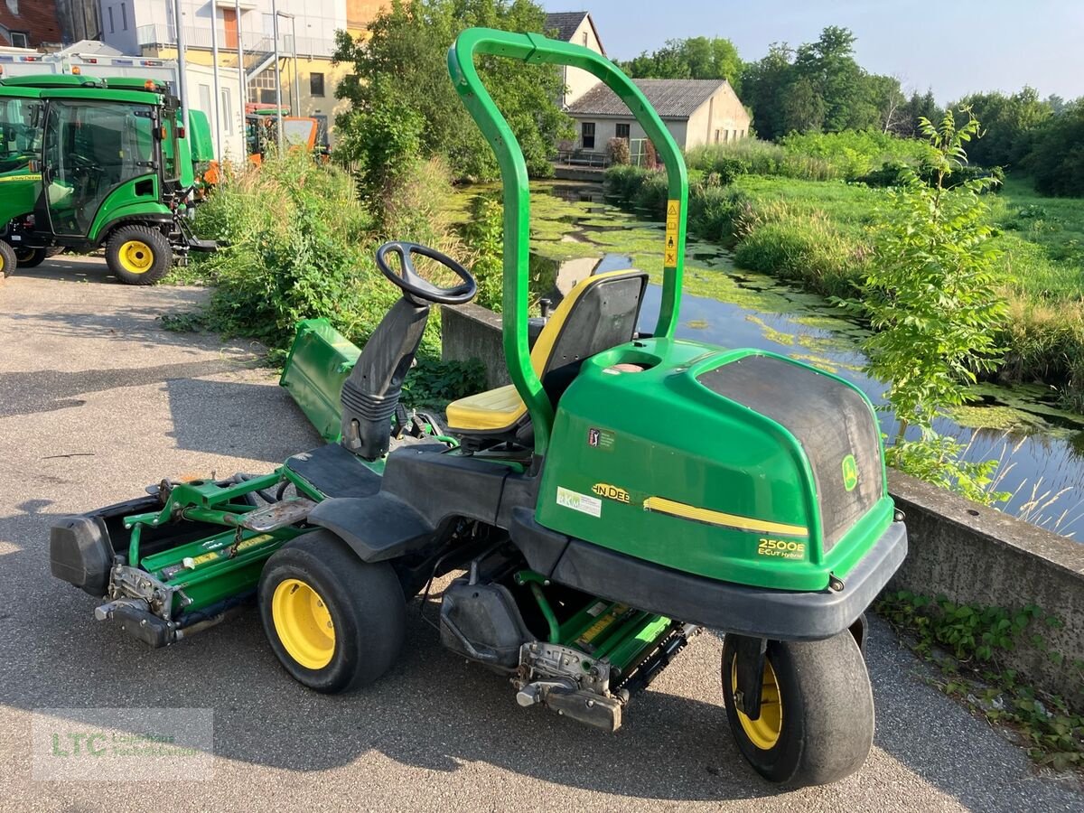
M 694 170 L 692 236 L 730 247 L 738 266 L 824 296 L 853 296 L 872 249 L 868 229 L 886 190 L 838 180 L 744 175 L 726 185 Z M 662 219 L 664 175 L 612 168 L 607 195 Z M 1036 195 L 1019 179 L 991 197 L 993 244 L 1009 304 L 998 337 L 1004 384 L 1058 388 L 1062 405 L 1084 408 L 1084 201 Z

